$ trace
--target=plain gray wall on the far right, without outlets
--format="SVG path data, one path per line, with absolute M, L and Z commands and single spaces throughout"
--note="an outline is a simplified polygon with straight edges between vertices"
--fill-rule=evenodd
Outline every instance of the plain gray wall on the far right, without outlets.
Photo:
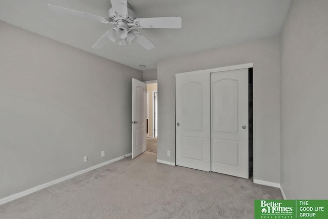
M 281 186 L 328 198 L 328 1 L 297 0 L 281 34 Z

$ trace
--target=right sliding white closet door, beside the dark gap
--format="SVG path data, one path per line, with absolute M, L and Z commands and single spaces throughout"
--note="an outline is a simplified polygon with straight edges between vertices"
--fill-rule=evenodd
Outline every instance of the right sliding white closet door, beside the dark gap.
M 213 172 L 249 178 L 248 69 L 211 73 Z

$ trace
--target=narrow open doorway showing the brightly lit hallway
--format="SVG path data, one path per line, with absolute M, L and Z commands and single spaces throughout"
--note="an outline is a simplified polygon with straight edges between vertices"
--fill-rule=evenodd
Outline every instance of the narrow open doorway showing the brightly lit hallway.
M 147 151 L 152 153 L 157 153 L 157 126 L 158 126 L 158 116 L 157 116 L 157 82 L 151 81 L 146 82 L 147 86 L 147 132 L 146 132 L 146 143 Z

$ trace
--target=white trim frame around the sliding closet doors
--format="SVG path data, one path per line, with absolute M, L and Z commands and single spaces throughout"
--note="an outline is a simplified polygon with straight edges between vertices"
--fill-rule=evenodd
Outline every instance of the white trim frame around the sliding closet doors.
M 253 63 L 246 63 L 246 64 L 233 65 L 233 66 L 225 66 L 225 67 L 218 67 L 218 68 L 211 68 L 211 69 L 176 73 L 175 77 L 184 77 L 184 76 L 197 75 L 197 74 L 211 74 L 211 72 L 230 71 L 230 70 L 238 70 L 238 69 L 245 69 L 245 68 L 248 68 L 248 69 L 253 68 Z M 252 73 L 253 73 L 253 71 L 252 71 Z M 253 105 L 253 107 L 254 107 L 254 105 Z M 253 109 L 253 107 L 252 107 L 252 109 Z M 177 121 L 175 121 L 175 124 L 176 123 L 177 123 Z M 252 128 L 253 128 L 252 135 L 254 135 L 254 130 L 255 130 L 254 129 L 254 123 L 253 123 Z M 249 138 L 250 138 L 250 136 L 249 136 Z M 254 150 L 254 144 L 252 146 L 252 150 Z M 254 159 L 254 155 L 253 155 L 253 159 Z M 175 139 L 175 163 L 174 163 L 174 166 L 175 165 L 176 165 L 176 139 Z

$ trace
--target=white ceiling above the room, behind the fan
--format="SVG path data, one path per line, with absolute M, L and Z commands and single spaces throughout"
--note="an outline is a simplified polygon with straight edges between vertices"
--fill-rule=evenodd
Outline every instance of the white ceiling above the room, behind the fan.
M 155 69 L 157 61 L 278 35 L 291 0 L 128 0 L 136 17 L 182 17 L 181 29 L 139 29 L 156 48 L 138 44 L 91 46 L 111 25 L 61 14 L 51 3 L 108 16 L 110 0 L 1 0 L 0 20 L 132 68 Z M 146 65 L 141 69 L 139 65 Z

